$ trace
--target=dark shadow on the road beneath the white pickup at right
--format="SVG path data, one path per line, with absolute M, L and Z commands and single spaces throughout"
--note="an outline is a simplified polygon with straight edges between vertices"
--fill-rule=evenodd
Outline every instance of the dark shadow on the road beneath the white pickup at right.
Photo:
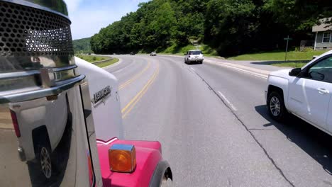
M 275 126 L 275 128 L 286 135 L 287 140 L 303 149 L 316 162 L 319 162 L 328 174 L 332 175 L 332 136 L 294 115 L 286 123 L 277 123 L 270 118 L 265 105 L 256 106 L 255 110 L 270 122 L 263 125 L 263 127 Z

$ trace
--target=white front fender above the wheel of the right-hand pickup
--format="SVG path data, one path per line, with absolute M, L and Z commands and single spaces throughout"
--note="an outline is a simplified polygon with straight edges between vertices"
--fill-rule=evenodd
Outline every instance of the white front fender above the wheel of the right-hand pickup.
M 267 96 L 273 89 L 281 89 L 282 95 L 284 96 L 284 106 L 288 110 L 288 90 L 289 90 L 289 80 L 283 77 L 270 76 L 268 79 L 269 86 L 267 88 Z

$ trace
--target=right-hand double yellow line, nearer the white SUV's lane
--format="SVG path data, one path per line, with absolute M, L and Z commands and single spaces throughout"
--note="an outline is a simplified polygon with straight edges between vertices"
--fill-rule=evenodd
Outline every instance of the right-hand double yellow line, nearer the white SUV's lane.
M 143 86 L 143 89 L 141 89 L 140 92 L 138 92 L 138 94 L 136 94 L 136 96 L 133 99 L 131 99 L 131 101 L 124 108 L 122 108 L 122 111 L 121 111 L 122 112 L 122 118 L 126 118 L 126 115 L 131 110 L 133 110 L 136 103 L 138 103 L 138 101 L 140 101 L 140 98 L 142 98 L 144 96 L 146 91 L 148 91 L 148 89 L 150 88 L 151 84 L 153 84 L 153 82 L 155 81 L 158 74 L 159 74 L 159 64 L 157 65 L 157 69 L 155 69 L 155 72 L 153 73 L 153 76 Z

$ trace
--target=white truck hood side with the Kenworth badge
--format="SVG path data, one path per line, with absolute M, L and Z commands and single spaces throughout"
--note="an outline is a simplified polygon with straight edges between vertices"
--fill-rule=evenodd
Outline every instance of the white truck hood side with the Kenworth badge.
M 79 74 L 86 75 L 92 98 L 92 114 L 96 139 L 108 141 L 114 137 L 123 139 L 118 79 L 106 70 L 75 57 Z

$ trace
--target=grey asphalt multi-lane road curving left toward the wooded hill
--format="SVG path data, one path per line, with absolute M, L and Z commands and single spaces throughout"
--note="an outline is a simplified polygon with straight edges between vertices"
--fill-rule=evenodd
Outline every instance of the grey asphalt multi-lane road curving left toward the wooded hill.
M 174 186 L 332 186 L 332 137 L 267 115 L 266 79 L 179 57 L 119 56 L 126 139 L 158 140 Z

